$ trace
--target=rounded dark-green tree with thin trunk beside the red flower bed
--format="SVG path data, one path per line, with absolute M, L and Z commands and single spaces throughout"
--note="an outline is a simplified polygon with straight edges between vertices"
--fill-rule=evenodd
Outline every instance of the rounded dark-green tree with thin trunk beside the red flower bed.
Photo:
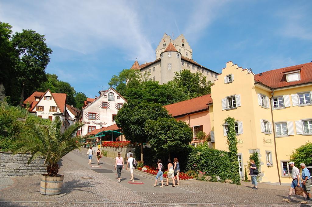
M 157 120 L 159 117 L 171 118 L 168 111 L 156 103 L 130 101 L 118 111 L 116 124 L 122 129 L 124 136 L 131 142 L 141 144 L 141 161 L 143 162 L 143 143 L 147 142 L 148 134 L 144 130 L 147 120 Z

